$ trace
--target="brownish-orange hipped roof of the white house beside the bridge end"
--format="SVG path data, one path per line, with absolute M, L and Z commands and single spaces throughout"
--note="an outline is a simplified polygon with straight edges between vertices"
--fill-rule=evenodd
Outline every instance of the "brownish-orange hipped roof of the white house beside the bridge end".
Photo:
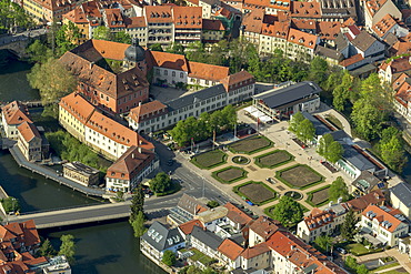
M 120 180 L 132 180 L 143 169 L 150 165 L 154 158 L 152 151 L 132 145 L 109 166 L 106 176 Z

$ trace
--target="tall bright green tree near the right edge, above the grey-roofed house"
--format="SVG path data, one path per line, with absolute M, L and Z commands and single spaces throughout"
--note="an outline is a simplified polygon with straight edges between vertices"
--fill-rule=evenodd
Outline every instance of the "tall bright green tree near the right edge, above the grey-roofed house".
M 405 150 L 400 132 L 390 126 L 382 131 L 382 138 L 378 144 L 381 158 L 390 169 L 401 173 L 407 163 Z

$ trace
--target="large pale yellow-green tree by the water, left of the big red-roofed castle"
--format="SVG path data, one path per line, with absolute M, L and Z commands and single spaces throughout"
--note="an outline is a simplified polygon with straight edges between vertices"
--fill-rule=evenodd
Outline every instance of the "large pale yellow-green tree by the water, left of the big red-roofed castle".
M 72 92 L 77 85 L 76 78 L 59 60 L 52 58 L 43 64 L 34 64 L 27 78 L 30 85 L 40 91 L 43 104 L 56 103 Z

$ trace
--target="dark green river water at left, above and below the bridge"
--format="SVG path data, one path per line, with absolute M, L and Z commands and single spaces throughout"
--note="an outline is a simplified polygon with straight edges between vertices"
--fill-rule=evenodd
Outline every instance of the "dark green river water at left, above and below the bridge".
M 37 90 L 30 88 L 26 74 L 31 65 L 0 50 L 0 101 L 38 100 Z M 98 203 L 53 181 L 20 169 L 10 153 L 0 152 L 0 185 L 19 200 L 22 212 L 60 209 Z M 76 226 L 64 230 L 40 231 L 59 246 L 63 234 L 76 237 L 76 264 L 73 273 L 112 274 L 164 273 L 140 253 L 139 241 L 127 221 L 102 223 L 93 226 Z

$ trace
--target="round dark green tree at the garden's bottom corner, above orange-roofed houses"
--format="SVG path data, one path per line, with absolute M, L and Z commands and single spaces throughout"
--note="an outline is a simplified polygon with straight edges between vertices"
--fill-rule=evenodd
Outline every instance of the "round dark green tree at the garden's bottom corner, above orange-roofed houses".
M 273 217 L 284 226 L 292 226 L 302 219 L 301 205 L 292 197 L 282 196 L 272 211 Z

